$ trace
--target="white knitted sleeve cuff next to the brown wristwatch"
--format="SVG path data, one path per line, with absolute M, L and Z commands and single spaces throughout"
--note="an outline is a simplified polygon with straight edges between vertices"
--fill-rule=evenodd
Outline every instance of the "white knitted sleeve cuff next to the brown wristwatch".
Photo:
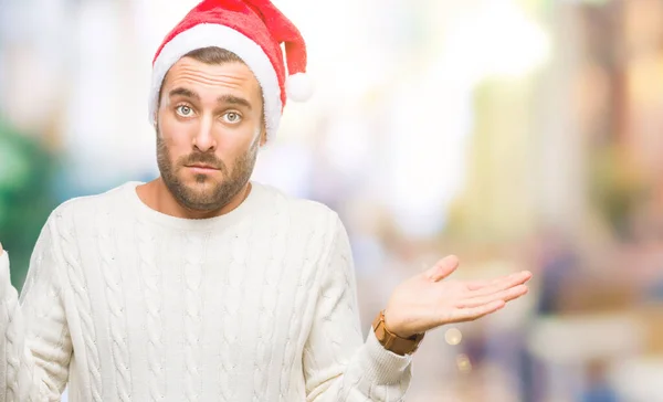
M 393 384 L 410 377 L 411 356 L 399 356 L 387 349 L 378 341 L 372 329 L 368 332 L 366 350 L 369 357 L 366 367 L 367 380 L 372 384 Z

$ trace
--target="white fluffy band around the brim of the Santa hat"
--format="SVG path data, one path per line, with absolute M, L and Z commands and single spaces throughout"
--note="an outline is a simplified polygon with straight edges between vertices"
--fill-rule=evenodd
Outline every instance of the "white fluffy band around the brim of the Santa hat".
M 267 140 L 273 138 L 278 129 L 282 112 L 281 87 L 276 71 L 260 45 L 244 34 L 220 24 L 198 24 L 178 34 L 164 46 L 152 68 L 148 99 L 150 123 L 152 125 L 156 123 L 159 91 L 166 73 L 185 54 L 209 46 L 233 52 L 251 68 L 263 92 Z

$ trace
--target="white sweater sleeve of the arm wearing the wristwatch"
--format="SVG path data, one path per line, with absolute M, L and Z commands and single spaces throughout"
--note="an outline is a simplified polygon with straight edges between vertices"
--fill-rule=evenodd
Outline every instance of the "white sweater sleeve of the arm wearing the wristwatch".
M 336 218 L 314 321 L 304 348 L 307 401 L 402 401 L 411 357 L 386 350 L 370 330 L 362 342 L 350 244 Z

